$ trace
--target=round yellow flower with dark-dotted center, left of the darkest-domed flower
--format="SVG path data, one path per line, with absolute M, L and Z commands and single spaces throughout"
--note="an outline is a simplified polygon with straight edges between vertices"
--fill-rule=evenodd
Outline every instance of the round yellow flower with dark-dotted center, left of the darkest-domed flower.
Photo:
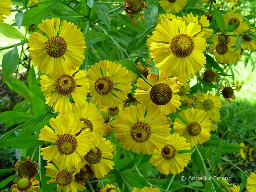
M 90 94 L 99 107 L 114 108 L 131 93 L 131 74 L 121 64 L 112 61 L 99 61 L 89 70 Z

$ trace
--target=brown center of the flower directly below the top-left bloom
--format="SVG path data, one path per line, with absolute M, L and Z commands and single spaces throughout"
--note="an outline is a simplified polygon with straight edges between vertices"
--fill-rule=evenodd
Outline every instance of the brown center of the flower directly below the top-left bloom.
M 61 75 L 54 82 L 58 94 L 67 96 L 76 90 L 76 80 L 70 75 Z

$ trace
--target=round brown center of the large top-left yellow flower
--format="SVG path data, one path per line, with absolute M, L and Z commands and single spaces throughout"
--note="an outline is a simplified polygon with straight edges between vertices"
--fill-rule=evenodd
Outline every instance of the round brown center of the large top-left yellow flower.
M 67 42 L 60 36 L 54 36 L 46 41 L 44 47 L 50 57 L 60 58 L 67 51 Z

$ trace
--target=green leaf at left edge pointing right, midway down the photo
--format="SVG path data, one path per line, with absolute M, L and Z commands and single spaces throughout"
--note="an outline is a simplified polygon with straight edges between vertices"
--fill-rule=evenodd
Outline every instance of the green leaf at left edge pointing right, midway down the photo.
M 5 127 L 9 127 L 21 122 L 32 119 L 34 115 L 20 111 L 4 111 L 0 113 L 0 122 L 6 123 Z

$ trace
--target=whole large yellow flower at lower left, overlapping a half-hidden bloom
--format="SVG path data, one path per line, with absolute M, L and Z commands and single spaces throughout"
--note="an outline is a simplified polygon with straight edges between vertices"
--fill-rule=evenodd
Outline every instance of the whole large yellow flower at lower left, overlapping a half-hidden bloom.
M 92 133 L 90 129 L 84 129 L 79 136 L 76 134 L 84 128 L 84 123 L 72 116 L 59 115 L 52 118 L 49 124 L 41 129 L 39 139 L 55 143 L 45 148 L 41 148 L 41 155 L 47 163 L 58 155 L 61 155 L 59 163 L 64 166 L 78 166 L 80 156 L 84 156 L 91 148 Z M 80 156 L 79 156 L 80 155 Z

